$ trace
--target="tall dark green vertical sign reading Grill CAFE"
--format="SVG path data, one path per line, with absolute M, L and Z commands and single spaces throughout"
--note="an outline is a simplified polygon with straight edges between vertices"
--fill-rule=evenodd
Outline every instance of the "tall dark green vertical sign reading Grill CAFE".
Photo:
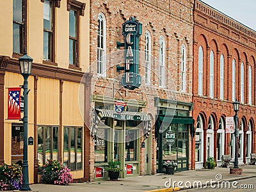
M 129 90 L 134 90 L 141 85 L 139 74 L 139 40 L 142 32 L 142 24 L 130 17 L 122 26 L 122 34 L 125 38 L 125 65 L 122 84 Z

